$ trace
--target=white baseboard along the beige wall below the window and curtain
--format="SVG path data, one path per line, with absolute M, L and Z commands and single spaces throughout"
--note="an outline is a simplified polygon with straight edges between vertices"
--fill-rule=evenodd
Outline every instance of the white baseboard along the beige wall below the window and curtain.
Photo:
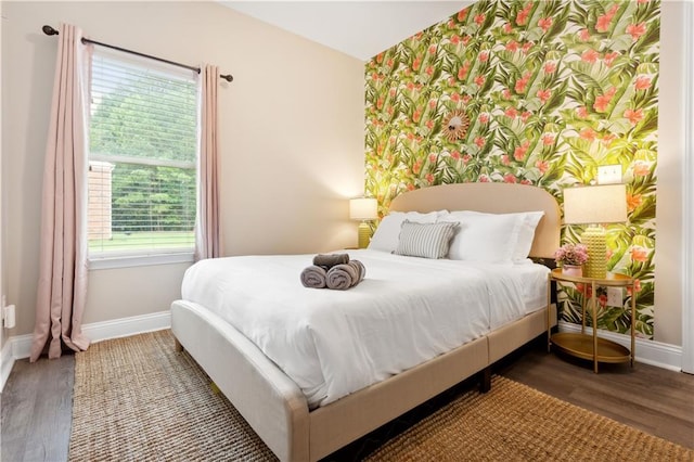
M 92 322 L 82 325 L 82 333 L 92 343 L 111 338 L 128 337 L 144 332 L 160 331 L 171 326 L 171 312 L 159 311 L 112 321 Z M 0 371 L 0 392 L 10 376 L 12 365 L 17 359 L 28 358 L 31 351 L 31 334 L 15 335 L 8 338 L 2 348 L 2 369 Z

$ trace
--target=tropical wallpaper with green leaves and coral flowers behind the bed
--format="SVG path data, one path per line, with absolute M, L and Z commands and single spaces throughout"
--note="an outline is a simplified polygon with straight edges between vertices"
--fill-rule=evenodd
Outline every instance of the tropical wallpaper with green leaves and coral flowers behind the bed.
M 367 192 L 382 214 L 400 192 L 468 181 L 561 204 L 619 164 L 629 219 L 607 227 L 608 269 L 638 279 L 635 328 L 652 338 L 659 27 L 659 0 L 481 0 L 380 53 L 365 65 Z M 583 290 L 562 291 L 564 320 L 580 322 Z M 597 325 L 628 332 L 632 294 L 621 307 L 597 295 Z

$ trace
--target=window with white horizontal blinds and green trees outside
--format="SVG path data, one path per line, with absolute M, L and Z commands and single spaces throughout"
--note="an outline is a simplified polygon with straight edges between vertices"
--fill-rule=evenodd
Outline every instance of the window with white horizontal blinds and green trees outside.
M 191 70 L 94 50 L 90 260 L 193 252 L 197 84 Z

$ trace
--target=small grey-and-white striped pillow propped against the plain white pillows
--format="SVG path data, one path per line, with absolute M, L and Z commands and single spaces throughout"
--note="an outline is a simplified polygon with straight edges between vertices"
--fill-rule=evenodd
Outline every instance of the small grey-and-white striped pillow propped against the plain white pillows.
M 394 253 L 410 257 L 444 258 L 448 255 L 448 246 L 457 229 L 458 222 L 419 223 L 404 220 Z

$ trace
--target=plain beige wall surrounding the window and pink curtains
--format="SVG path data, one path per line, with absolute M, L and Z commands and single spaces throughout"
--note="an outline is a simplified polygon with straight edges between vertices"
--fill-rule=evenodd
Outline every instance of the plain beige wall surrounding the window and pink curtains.
M 363 191 L 363 63 L 214 2 L 3 2 L 2 170 L 7 294 L 33 331 L 46 131 L 56 39 L 94 40 L 234 76 L 219 91 L 227 254 L 354 245 L 347 197 Z M 90 271 L 86 323 L 168 309 L 188 265 Z

